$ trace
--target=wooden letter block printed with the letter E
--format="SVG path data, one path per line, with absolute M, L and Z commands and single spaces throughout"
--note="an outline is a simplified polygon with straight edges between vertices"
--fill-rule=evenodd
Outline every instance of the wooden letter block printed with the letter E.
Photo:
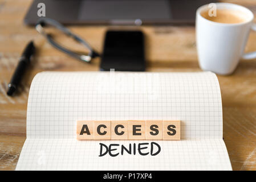
M 128 139 L 144 140 L 145 139 L 145 121 L 128 121 Z

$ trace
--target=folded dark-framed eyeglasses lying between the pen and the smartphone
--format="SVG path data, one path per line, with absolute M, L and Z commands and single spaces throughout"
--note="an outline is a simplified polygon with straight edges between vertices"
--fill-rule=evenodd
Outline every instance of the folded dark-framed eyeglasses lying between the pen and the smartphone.
M 46 27 L 46 26 L 54 27 L 54 28 L 60 30 L 61 32 L 63 32 L 66 36 L 74 39 L 75 42 L 82 44 L 84 47 L 86 47 L 89 50 L 88 54 L 86 55 L 86 54 L 78 53 L 78 52 L 72 51 L 64 46 L 61 46 L 59 43 L 57 43 L 54 40 L 54 38 L 52 37 L 51 34 L 47 34 L 47 32 L 44 30 L 44 27 Z M 59 22 L 56 22 L 56 20 L 53 20 L 50 18 L 41 18 L 36 23 L 35 29 L 40 34 L 42 34 L 53 47 L 55 47 L 56 49 L 59 49 L 60 51 L 62 51 L 64 53 L 67 53 L 68 55 L 74 57 L 75 59 L 79 59 L 79 60 L 85 61 L 87 63 L 90 63 L 92 58 L 100 56 L 99 53 L 94 51 L 94 49 L 90 46 L 90 44 L 88 44 L 85 40 L 83 40 L 79 36 L 73 34 L 70 30 L 68 30 L 68 28 L 62 26 L 62 24 L 60 24 Z

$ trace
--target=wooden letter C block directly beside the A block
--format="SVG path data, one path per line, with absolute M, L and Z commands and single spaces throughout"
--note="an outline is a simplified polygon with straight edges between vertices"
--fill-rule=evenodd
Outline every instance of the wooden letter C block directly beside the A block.
M 111 121 L 94 121 L 94 139 L 111 139 Z

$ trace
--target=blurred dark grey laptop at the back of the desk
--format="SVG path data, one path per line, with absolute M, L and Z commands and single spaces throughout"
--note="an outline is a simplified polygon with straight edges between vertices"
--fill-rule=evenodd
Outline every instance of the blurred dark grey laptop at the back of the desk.
M 34 0 L 24 22 L 34 25 L 39 3 L 47 18 L 62 24 L 194 24 L 196 9 L 209 0 Z

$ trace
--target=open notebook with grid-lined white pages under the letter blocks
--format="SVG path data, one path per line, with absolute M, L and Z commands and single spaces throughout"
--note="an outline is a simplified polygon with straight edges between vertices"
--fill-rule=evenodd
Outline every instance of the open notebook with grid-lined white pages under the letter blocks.
M 180 120 L 181 140 L 77 140 L 76 121 Z M 123 155 L 151 142 L 157 155 Z M 100 143 L 119 144 L 115 157 Z M 135 151 L 137 148 L 135 147 Z M 155 150 L 155 149 L 152 149 Z M 231 170 L 222 102 L 211 72 L 42 72 L 32 81 L 16 170 Z

